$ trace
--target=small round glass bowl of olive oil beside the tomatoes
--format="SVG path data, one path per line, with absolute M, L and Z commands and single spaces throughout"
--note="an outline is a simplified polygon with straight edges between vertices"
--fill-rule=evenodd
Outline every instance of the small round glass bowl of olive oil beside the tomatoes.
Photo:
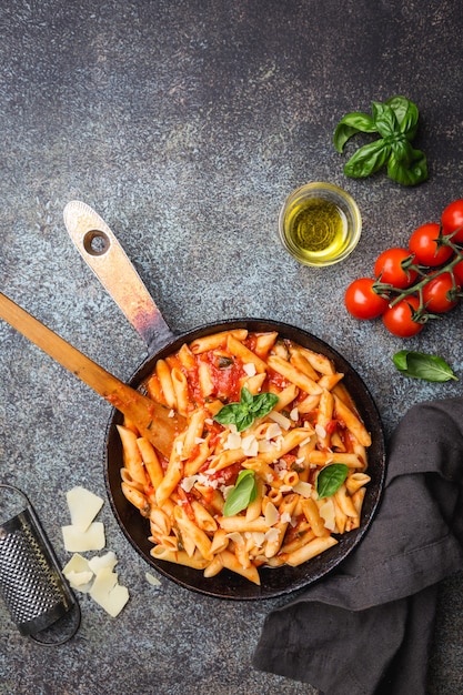
M 362 218 L 355 201 L 332 183 L 306 183 L 284 201 L 279 218 L 283 246 L 305 265 L 332 265 L 356 246 Z

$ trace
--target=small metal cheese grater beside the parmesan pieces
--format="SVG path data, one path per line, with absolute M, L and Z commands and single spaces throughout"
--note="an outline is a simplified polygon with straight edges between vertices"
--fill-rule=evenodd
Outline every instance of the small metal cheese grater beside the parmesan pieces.
M 21 510 L 0 521 L 0 595 L 22 635 L 44 645 L 62 644 L 79 627 L 79 604 L 28 497 L 2 483 L 0 494 L 1 516 Z

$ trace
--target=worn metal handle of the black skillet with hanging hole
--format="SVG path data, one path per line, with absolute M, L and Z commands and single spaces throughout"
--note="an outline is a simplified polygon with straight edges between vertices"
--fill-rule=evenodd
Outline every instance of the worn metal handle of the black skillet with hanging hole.
M 66 205 L 63 218 L 77 250 L 147 343 L 149 354 L 172 340 L 173 333 L 143 281 L 100 215 L 73 200 Z

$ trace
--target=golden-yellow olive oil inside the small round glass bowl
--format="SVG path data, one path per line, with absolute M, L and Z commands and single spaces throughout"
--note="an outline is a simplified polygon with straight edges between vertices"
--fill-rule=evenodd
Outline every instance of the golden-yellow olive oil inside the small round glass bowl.
M 308 260 L 330 261 L 348 239 L 348 219 L 339 205 L 322 198 L 298 201 L 286 218 L 289 242 Z

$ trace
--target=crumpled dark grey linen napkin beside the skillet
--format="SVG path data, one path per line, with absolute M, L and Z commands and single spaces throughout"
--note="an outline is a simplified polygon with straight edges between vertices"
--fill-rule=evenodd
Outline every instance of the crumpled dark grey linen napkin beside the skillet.
M 463 399 L 447 399 L 405 414 L 365 537 L 266 617 L 253 666 L 326 695 L 424 694 L 436 584 L 462 568 Z

